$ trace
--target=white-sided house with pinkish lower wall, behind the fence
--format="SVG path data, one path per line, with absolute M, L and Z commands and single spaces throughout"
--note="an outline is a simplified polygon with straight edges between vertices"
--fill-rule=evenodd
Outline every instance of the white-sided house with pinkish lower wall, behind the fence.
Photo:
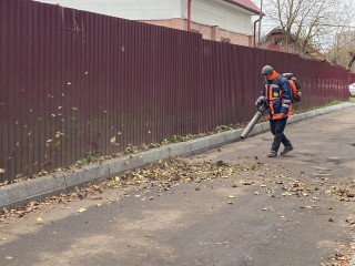
M 201 33 L 203 39 L 245 47 L 253 44 L 252 17 L 260 14 L 251 0 L 37 1 L 180 30 L 187 30 L 190 24 L 191 31 Z

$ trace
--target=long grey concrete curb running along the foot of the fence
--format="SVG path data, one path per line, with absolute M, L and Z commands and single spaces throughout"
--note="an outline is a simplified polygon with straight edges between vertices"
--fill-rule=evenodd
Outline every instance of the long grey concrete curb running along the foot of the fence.
M 295 114 L 291 116 L 287 122 L 294 123 L 315 115 L 329 113 L 354 105 L 355 104 L 352 103 L 342 103 L 320 110 L 313 110 L 306 113 Z M 189 142 L 153 149 L 139 154 L 112 158 L 101 164 L 90 164 L 79 170 L 51 174 L 22 183 L 6 185 L 0 187 L 0 207 L 14 208 L 31 201 L 38 201 L 61 192 L 70 192 L 74 187 L 79 187 L 91 182 L 99 182 L 109 176 L 120 175 L 126 171 L 138 167 L 143 167 L 150 163 L 169 156 L 191 156 L 232 142 L 237 142 L 241 141 L 243 130 L 244 129 L 231 130 Z M 260 123 L 254 126 L 250 136 L 254 136 L 266 131 L 268 131 L 268 122 Z M 355 262 L 352 266 L 355 266 Z

